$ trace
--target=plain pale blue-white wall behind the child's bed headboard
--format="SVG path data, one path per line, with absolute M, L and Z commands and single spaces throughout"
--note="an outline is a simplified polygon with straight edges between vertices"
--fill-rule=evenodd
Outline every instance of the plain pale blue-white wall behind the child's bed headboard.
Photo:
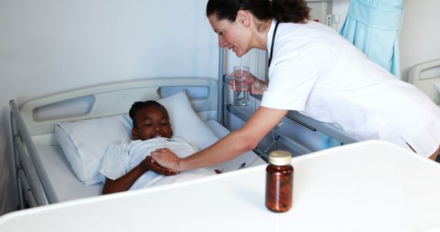
M 206 2 L 0 0 L 0 215 L 16 206 L 9 100 L 139 78 L 217 78 Z

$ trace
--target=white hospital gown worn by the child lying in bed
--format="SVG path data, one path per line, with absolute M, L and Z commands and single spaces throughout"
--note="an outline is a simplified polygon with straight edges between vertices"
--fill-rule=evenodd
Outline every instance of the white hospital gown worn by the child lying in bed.
M 167 139 L 164 137 L 142 140 L 124 140 L 119 143 L 113 143 L 107 148 L 104 157 L 102 158 L 102 165 L 100 173 L 111 180 L 115 180 L 124 176 L 127 172 L 132 170 L 146 156 L 158 148 L 169 148 L 179 158 L 185 158 L 197 152 L 197 148 L 186 142 L 182 137 L 173 137 Z M 181 172 L 174 176 L 163 176 L 155 172 L 148 171 L 137 178 L 130 189 L 140 189 L 142 187 L 151 187 L 155 185 L 164 185 L 174 183 L 176 181 L 185 181 L 201 176 L 209 176 L 215 174 L 211 167 L 199 168 L 196 170 L 189 170 Z

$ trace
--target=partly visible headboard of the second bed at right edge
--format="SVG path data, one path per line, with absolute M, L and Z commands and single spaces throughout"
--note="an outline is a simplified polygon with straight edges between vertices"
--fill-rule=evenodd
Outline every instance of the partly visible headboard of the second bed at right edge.
M 408 82 L 426 93 L 435 104 L 440 104 L 440 93 L 435 86 L 435 84 L 440 84 L 440 72 L 428 73 L 429 69 L 436 67 L 440 67 L 440 59 L 414 65 L 408 71 Z M 423 71 L 426 71 L 427 75 L 423 75 Z

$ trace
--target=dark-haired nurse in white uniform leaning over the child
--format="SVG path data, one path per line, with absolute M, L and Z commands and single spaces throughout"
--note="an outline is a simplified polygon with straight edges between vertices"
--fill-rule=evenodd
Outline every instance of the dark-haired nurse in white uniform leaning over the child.
M 252 150 L 288 111 L 333 124 L 360 140 L 390 141 L 436 159 L 440 110 L 415 86 L 371 62 L 330 27 L 309 21 L 303 0 L 209 0 L 219 45 L 243 56 L 268 51 L 269 83 L 252 81 L 261 106 L 243 128 L 179 159 L 166 148 L 153 159 L 175 171 L 217 165 Z

